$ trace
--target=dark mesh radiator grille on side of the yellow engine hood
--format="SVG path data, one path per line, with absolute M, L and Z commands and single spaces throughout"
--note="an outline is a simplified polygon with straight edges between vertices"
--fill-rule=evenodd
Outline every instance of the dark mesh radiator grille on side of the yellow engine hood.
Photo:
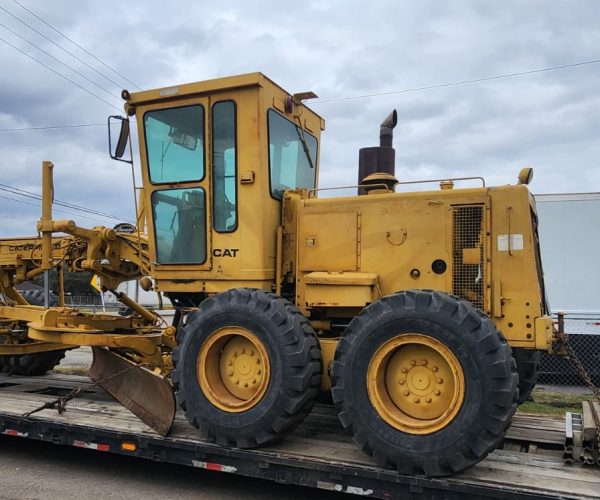
M 453 206 L 452 225 L 452 289 L 454 295 L 468 300 L 475 307 L 484 307 L 484 251 L 485 229 L 483 225 L 483 205 Z M 464 249 L 478 249 L 479 262 L 463 262 Z M 477 250 L 472 253 L 477 255 Z

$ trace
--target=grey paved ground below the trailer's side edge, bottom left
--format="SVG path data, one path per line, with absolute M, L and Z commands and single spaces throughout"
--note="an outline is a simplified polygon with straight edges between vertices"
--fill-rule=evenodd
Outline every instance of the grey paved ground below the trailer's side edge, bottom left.
M 345 495 L 159 464 L 133 457 L 0 437 L 0 499 L 281 499 Z

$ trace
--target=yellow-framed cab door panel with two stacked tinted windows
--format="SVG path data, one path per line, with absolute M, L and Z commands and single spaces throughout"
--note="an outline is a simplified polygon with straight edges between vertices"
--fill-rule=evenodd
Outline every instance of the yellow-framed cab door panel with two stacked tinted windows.
M 142 176 L 155 276 L 211 268 L 207 99 L 140 109 Z

